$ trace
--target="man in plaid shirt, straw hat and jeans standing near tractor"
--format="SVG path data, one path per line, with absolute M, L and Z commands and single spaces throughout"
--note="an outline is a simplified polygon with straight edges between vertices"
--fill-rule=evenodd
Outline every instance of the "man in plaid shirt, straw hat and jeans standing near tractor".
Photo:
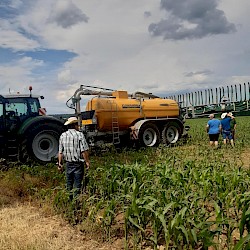
M 72 199 L 81 193 L 84 165 L 87 170 L 90 167 L 89 146 L 83 133 L 79 132 L 76 117 L 68 118 L 64 125 L 68 130 L 62 133 L 59 139 L 58 170 L 63 169 L 63 161 L 65 161 L 66 185 Z M 72 193 L 73 189 L 74 193 Z

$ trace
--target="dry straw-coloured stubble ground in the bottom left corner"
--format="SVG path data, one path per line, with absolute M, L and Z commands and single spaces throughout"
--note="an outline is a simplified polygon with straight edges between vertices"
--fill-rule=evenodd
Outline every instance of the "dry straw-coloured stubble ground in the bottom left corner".
M 59 216 L 48 216 L 29 204 L 0 210 L 0 249 L 120 250 L 124 242 L 98 242 L 68 225 Z M 98 238 L 98 237 L 97 237 Z

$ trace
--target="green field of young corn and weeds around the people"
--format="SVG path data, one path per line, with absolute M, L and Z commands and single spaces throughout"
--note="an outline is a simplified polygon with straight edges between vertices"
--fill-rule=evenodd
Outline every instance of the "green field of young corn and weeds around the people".
M 250 117 L 237 117 L 234 148 L 209 147 L 206 122 L 188 120 L 191 138 L 183 145 L 93 155 L 77 204 L 56 166 L 2 171 L 0 205 L 45 203 L 82 231 L 92 225 L 103 239 L 124 237 L 125 248 L 247 249 Z

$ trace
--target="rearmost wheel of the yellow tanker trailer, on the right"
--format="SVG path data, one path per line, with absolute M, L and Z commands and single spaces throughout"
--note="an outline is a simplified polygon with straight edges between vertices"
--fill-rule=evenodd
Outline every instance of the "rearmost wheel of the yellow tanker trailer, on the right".
M 181 137 L 181 128 L 176 122 L 168 122 L 162 130 L 162 142 L 166 145 L 175 144 Z

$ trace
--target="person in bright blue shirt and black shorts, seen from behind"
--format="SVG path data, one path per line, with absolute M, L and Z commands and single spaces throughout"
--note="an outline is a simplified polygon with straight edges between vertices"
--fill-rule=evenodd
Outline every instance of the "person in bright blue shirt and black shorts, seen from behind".
M 218 147 L 218 139 L 221 132 L 220 120 L 214 118 L 214 114 L 209 115 L 210 120 L 207 123 L 206 131 L 209 136 L 210 146 Z

